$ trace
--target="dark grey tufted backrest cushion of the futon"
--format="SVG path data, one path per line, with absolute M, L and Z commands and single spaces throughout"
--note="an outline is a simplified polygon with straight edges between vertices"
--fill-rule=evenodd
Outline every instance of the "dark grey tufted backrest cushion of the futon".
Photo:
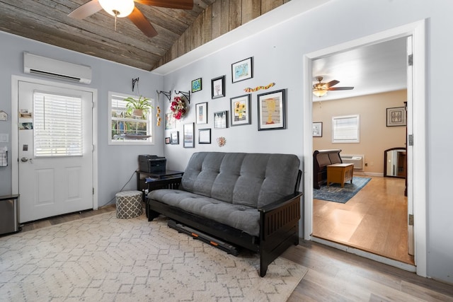
M 196 152 L 180 188 L 224 202 L 263 207 L 294 193 L 299 164 L 294 154 Z

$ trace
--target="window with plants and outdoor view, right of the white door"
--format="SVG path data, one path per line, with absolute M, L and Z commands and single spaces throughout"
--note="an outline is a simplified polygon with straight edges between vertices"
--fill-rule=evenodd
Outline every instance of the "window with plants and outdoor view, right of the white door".
M 125 101 L 127 97 L 139 98 L 121 93 L 108 93 L 110 128 L 108 144 L 153 144 L 151 110 L 144 112 L 142 116 L 132 114 L 127 110 Z

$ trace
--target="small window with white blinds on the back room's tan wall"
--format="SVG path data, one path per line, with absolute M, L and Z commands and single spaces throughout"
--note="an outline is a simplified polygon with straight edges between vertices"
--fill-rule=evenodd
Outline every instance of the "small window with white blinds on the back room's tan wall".
M 359 143 L 360 116 L 348 115 L 344 117 L 332 117 L 332 142 Z

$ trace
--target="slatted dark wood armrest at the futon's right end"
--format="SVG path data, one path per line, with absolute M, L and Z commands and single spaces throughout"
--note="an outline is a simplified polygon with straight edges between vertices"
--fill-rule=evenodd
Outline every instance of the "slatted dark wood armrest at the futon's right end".
M 289 228 L 294 228 L 301 217 L 300 197 L 302 192 L 294 192 L 277 202 L 258 209 L 260 211 L 260 239 L 282 236 Z

